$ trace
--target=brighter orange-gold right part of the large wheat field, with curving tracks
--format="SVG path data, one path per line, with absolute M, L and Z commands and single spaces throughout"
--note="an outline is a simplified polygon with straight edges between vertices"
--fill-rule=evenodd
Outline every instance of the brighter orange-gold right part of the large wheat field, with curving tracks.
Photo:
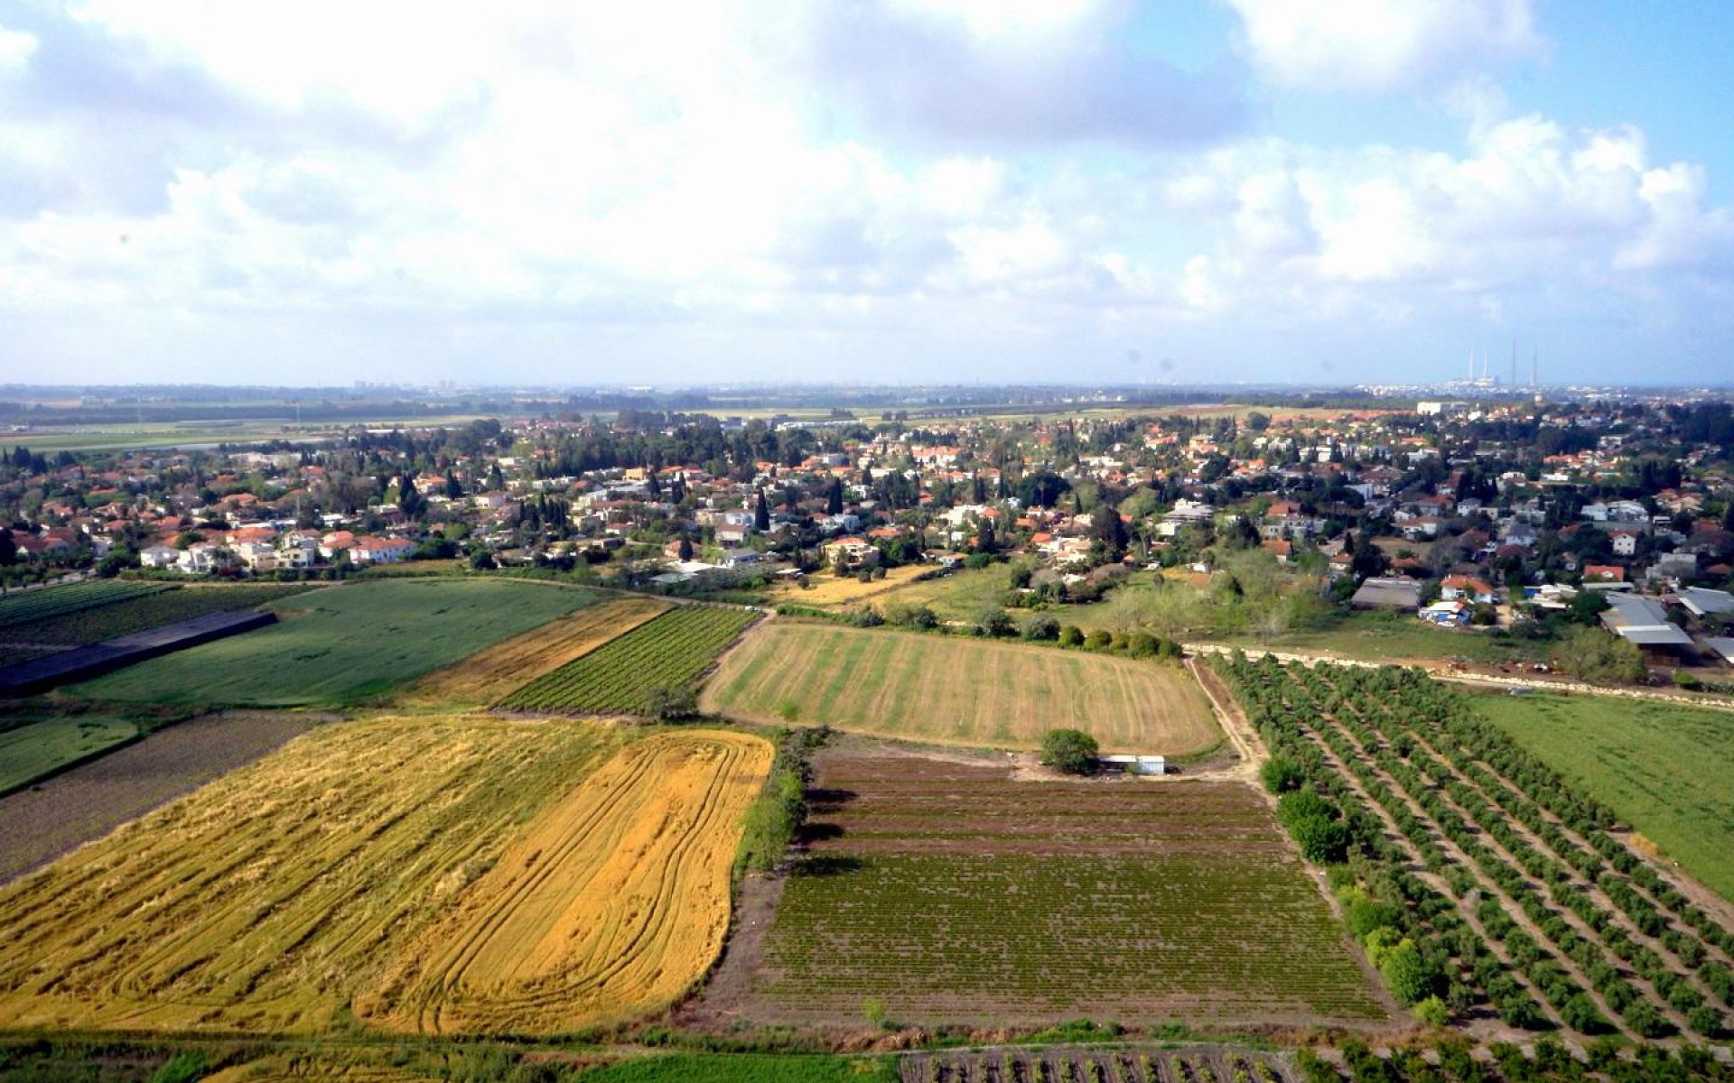
M 744 733 L 631 743 L 427 929 L 357 1014 L 423 1033 L 558 1033 L 673 1003 L 728 931 L 740 816 L 772 747 Z

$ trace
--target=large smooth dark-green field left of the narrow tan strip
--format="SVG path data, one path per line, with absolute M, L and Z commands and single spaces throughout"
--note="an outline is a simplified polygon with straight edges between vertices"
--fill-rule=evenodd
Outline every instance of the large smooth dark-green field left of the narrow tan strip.
M 272 603 L 279 624 L 69 691 L 95 700 L 335 707 L 385 693 L 576 608 L 588 591 L 501 579 L 381 579 Z

